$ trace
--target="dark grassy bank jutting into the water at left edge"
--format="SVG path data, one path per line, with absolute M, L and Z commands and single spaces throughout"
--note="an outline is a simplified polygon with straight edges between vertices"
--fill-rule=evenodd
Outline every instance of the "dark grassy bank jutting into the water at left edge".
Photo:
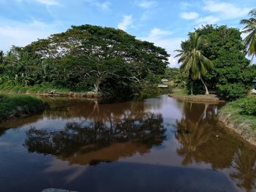
M 42 100 L 33 96 L 0 94 L 0 123 L 12 118 L 23 118 L 44 109 Z

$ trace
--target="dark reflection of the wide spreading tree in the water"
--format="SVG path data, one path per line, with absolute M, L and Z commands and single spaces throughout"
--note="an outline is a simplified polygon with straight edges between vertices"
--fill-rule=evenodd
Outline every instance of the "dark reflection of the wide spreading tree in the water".
M 64 129 L 48 131 L 30 128 L 25 146 L 30 152 L 56 155 L 71 164 L 97 164 L 116 161 L 134 153 L 148 153 L 165 140 L 162 115 L 143 112 L 132 106 L 114 112 L 102 112 L 95 103 L 88 119 L 67 123 Z

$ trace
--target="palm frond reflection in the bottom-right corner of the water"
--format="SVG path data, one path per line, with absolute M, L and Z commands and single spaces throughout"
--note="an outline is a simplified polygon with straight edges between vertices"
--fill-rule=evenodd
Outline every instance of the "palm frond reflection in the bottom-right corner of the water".
M 256 190 L 256 154 L 250 150 L 238 150 L 233 160 L 235 172 L 230 177 L 236 181 L 238 187 L 246 191 Z

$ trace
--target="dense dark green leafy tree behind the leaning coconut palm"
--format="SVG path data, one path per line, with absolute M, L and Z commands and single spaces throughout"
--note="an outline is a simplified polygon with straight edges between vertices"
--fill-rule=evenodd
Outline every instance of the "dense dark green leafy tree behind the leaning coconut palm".
M 207 69 L 203 76 L 209 90 L 217 91 L 219 97 L 225 100 L 246 96 L 252 80 L 256 77 L 256 67 L 246 58 L 246 47 L 243 45 L 241 32 L 237 28 L 206 25 L 195 29 L 195 33 L 203 39 L 197 49 L 212 62 L 211 68 Z M 192 50 L 193 45 L 195 42 L 189 38 L 181 43 L 181 51 Z M 200 70 L 202 69 L 197 69 L 197 72 Z M 180 73 L 178 79 L 184 79 L 178 82 L 186 82 L 184 87 L 188 93 L 204 92 L 200 80 L 193 80 L 188 74 L 182 76 L 182 72 Z

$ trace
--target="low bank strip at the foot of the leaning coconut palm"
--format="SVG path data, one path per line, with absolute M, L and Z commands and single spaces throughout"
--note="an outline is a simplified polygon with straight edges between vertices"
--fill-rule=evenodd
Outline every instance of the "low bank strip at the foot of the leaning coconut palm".
M 168 96 L 173 97 L 175 99 L 182 100 L 182 101 L 210 102 L 210 103 L 225 102 L 223 100 L 220 100 L 215 94 L 187 95 L 187 93 L 183 89 L 174 89 L 173 92 L 170 93 Z

